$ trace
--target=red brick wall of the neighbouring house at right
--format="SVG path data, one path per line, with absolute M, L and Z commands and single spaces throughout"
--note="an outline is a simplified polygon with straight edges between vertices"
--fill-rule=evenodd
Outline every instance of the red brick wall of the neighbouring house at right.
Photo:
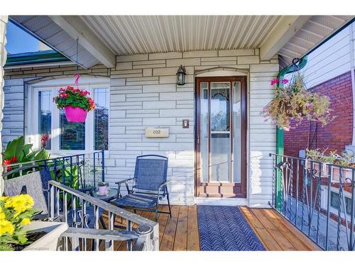
M 353 103 L 351 90 L 351 74 L 346 72 L 334 79 L 312 87 L 310 90 L 327 95 L 330 98 L 333 116 L 336 118 L 327 126 L 322 127 L 316 123 L 303 121 L 300 126 L 285 131 L 285 155 L 298 156 L 299 150 L 305 150 L 308 147 L 309 127 L 310 127 L 310 147 L 329 148 L 329 150 L 344 150 L 345 145 L 352 142 L 353 131 Z

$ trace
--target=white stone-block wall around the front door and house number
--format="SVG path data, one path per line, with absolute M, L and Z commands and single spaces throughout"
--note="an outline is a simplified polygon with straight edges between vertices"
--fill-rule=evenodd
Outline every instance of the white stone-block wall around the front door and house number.
M 180 65 L 187 72 L 184 86 L 175 84 Z M 194 79 L 195 72 L 212 67 L 250 70 L 249 204 L 267 206 L 272 191 L 268 153 L 275 151 L 275 128 L 263 121 L 260 111 L 273 96 L 270 80 L 278 63 L 260 62 L 258 50 L 252 49 L 118 56 L 111 72 L 109 181 L 131 177 L 138 155 L 165 155 L 173 203 L 194 202 Z M 190 128 L 182 128 L 182 119 L 190 119 Z M 146 138 L 144 129 L 153 126 L 170 128 L 169 138 Z

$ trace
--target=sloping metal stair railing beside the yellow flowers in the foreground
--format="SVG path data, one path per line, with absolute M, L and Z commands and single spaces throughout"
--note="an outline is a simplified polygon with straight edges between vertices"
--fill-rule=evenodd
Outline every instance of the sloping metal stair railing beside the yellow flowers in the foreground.
M 50 218 L 69 226 L 59 250 L 114 250 L 114 241 L 126 242 L 127 250 L 159 250 L 158 223 L 59 182 L 49 182 L 49 194 Z M 119 231 L 117 218 L 126 225 Z

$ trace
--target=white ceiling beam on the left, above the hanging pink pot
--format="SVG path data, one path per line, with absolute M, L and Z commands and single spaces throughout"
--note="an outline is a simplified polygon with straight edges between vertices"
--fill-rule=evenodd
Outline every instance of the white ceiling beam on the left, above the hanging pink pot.
M 102 40 L 97 38 L 79 16 L 49 16 L 60 28 L 73 39 L 79 39 L 80 45 L 105 67 L 114 67 L 116 57 Z

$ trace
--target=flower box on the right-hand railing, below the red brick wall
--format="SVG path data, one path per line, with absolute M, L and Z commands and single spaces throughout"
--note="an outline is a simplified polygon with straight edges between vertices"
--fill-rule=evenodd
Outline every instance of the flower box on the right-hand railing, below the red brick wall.
M 332 180 L 331 182 L 340 182 L 340 172 L 342 171 L 342 182 L 348 182 L 352 179 L 353 170 L 351 167 L 355 167 L 352 162 L 351 156 L 341 156 L 337 154 L 336 150 L 329 151 L 329 155 L 326 154 L 327 149 L 320 151 L 306 150 L 307 159 L 313 162 L 312 167 L 315 174 L 322 178 L 329 178 L 329 165 L 332 165 Z M 319 163 L 321 162 L 321 163 Z M 339 165 L 339 166 L 338 166 Z M 307 161 L 307 168 L 311 168 L 311 162 Z

